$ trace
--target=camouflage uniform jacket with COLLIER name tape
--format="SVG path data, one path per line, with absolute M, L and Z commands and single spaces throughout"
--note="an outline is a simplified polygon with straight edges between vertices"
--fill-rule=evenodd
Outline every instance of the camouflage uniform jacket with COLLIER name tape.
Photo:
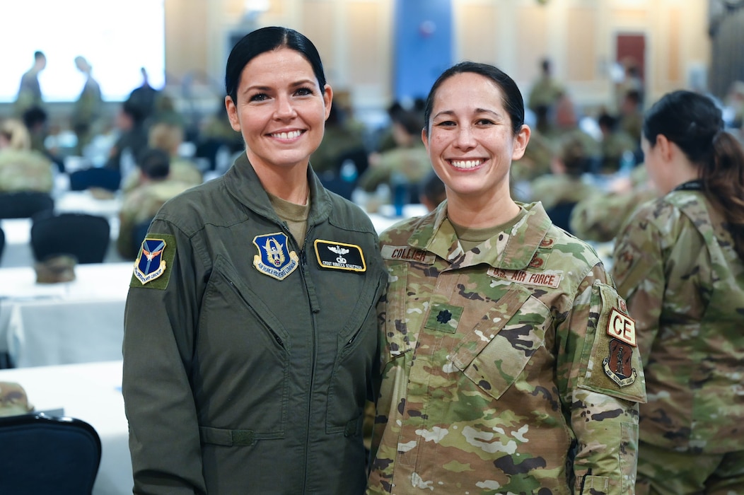
M 446 205 L 381 236 L 368 494 L 632 494 L 644 375 L 599 258 L 539 203 L 463 252 Z

